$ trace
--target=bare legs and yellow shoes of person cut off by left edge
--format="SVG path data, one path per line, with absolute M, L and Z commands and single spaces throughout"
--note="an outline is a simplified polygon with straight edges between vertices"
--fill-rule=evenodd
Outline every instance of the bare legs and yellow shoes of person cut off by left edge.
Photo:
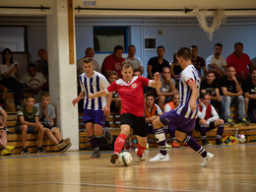
M 1 156 L 10 156 L 12 151 L 15 149 L 13 146 L 7 145 L 7 132 L 6 132 L 6 122 L 7 122 L 7 113 L 0 106 L 0 148 L 3 148 Z

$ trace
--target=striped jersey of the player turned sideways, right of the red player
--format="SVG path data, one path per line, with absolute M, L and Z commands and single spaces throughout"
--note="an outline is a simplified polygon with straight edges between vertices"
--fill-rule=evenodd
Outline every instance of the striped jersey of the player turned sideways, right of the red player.
M 200 74 L 194 65 L 188 65 L 182 72 L 181 78 L 179 80 L 179 94 L 180 94 L 180 104 L 175 109 L 177 114 L 184 115 L 185 118 L 194 119 L 198 116 L 198 107 L 192 111 L 190 108 L 190 97 L 192 95 L 192 90 L 188 86 L 188 82 L 193 80 L 196 83 L 198 92 L 200 90 Z M 198 93 L 199 96 L 199 93 Z M 198 103 L 197 103 L 198 104 Z

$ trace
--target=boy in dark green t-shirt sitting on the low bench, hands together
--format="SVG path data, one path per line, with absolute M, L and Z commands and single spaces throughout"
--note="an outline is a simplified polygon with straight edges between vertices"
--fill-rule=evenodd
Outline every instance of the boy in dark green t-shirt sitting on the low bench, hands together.
M 19 106 L 18 111 L 18 122 L 15 127 L 15 131 L 18 134 L 22 134 L 23 150 L 21 154 L 31 154 L 27 148 L 27 133 L 38 133 L 38 148 L 37 154 L 45 154 L 42 149 L 43 139 L 43 126 L 38 118 L 38 109 L 34 106 L 34 96 L 26 96 L 26 104 Z

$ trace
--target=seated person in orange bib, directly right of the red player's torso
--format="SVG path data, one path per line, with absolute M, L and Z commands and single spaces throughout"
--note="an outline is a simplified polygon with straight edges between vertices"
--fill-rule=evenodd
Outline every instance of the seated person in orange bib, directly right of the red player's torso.
M 160 106 L 155 103 L 154 95 L 152 93 L 148 93 L 145 101 L 145 116 L 149 134 L 155 134 L 152 122 L 161 114 L 162 111 Z M 149 149 L 149 144 L 147 144 L 147 149 Z

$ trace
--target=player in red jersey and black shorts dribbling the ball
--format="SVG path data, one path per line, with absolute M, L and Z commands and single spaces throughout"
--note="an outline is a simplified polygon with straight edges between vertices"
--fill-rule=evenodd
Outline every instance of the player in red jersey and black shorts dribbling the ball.
M 133 128 L 134 135 L 138 139 L 135 153 L 141 161 L 145 160 L 144 151 L 147 147 L 148 130 L 144 112 L 143 87 L 160 88 L 160 74 L 156 73 L 154 80 L 141 76 L 133 76 L 133 65 L 129 61 L 122 63 L 121 73 L 123 79 L 112 83 L 106 90 L 96 94 L 90 94 L 90 98 L 106 96 L 111 92 L 117 92 L 121 97 L 121 133 L 114 144 L 114 153 L 111 155 L 111 162 L 115 163 L 123 149 L 125 139 Z

